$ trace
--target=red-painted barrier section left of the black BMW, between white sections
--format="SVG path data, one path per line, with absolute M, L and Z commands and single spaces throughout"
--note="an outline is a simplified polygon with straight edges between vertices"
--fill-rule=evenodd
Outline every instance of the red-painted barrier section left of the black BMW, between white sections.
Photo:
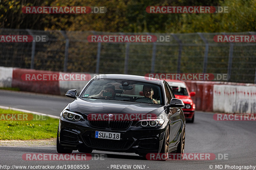
M 12 87 L 18 87 L 21 91 L 60 95 L 59 81 L 26 81 L 21 78 L 23 74 L 56 73 L 59 72 L 14 68 L 12 72 Z

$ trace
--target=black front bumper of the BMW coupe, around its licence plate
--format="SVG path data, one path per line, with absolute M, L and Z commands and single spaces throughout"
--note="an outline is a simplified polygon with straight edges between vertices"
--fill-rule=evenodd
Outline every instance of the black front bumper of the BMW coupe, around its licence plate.
M 160 127 L 140 127 L 133 123 L 125 130 L 112 130 L 94 128 L 87 121 L 70 122 L 62 117 L 59 124 L 60 144 L 72 150 L 90 148 L 109 152 L 132 152 L 139 155 L 159 153 L 166 123 Z M 95 131 L 121 133 L 120 140 L 95 138 Z

